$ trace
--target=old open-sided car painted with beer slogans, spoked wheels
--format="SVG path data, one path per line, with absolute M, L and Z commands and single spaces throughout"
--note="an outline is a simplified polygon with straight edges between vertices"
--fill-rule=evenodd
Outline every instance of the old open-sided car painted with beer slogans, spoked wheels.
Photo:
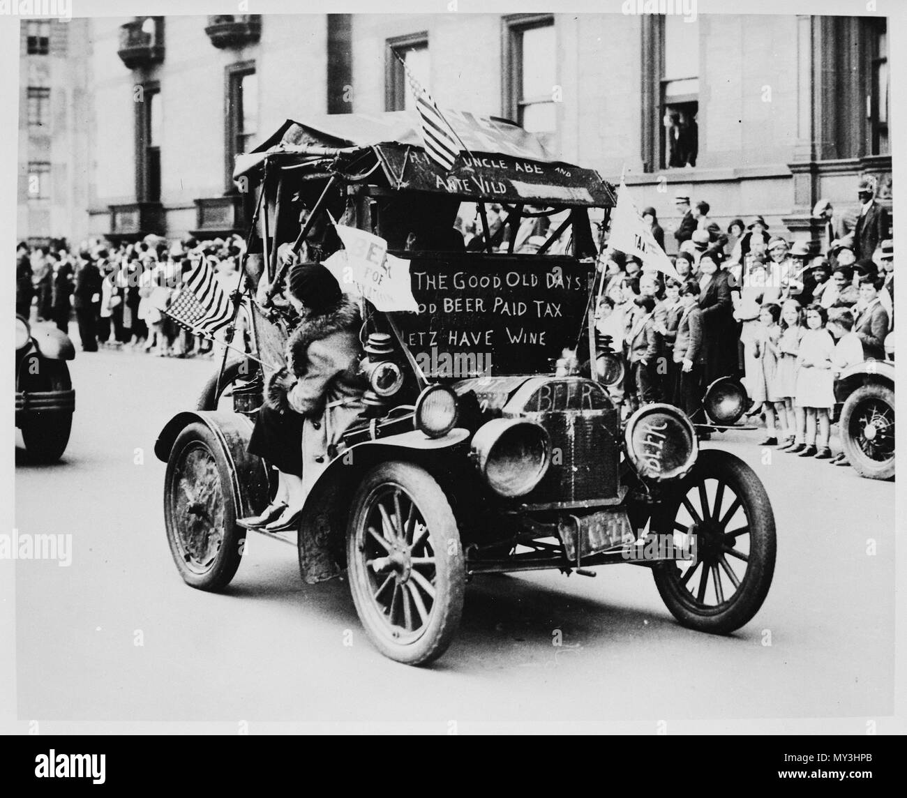
M 742 627 L 775 567 L 775 519 L 756 473 L 700 450 L 696 427 L 671 405 L 621 419 L 600 382 L 613 370 L 589 365 L 602 359 L 590 211 L 608 218 L 613 187 L 512 122 L 465 112 L 452 124 L 467 150 L 444 170 L 426 157 L 418 124 L 411 112 L 288 121 L 239 157 L 236 180 L 257 210 L 233 296 L 262 365 L 225 354 L 199 406 L 156 443 L 182 579 L 224 589 L 246 535 L 237 520 L 274 490 L 247 442 L 267 364 L 283 362 L 287 330 L 268 305 L 282 277 L 277 248 L 298 246 L 327 213 L 409 261 L 419 311 L 363 303 L 369 412 L 324 463 L 298 532 L 274 533 L 297 546 L 303 579 L 345 568 L 375 647 L 413 665 L 448 647 L 466 583 L 483 574 L 595 576 L 596 566 L 636 564 L 681 624 Z M 480 231 L 466 246 L 453 230 L 463 203 Z M 500 215 L 490 220 L 492 204 Z M 543 240 L 523 254 L 519 240 L 538 230 Z M 262 278 L 264 300 L 253 297 Z

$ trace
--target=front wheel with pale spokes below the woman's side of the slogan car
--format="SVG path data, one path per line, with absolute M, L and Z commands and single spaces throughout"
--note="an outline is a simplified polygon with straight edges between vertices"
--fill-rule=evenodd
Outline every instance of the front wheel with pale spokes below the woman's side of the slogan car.
M 466 574 L 457 522 L 434 477 L 395 461 L 366 473 L 349 516 L 346 561 L 356 612 L 385 657 L 425 665 L 444 654 L 460 624 Z

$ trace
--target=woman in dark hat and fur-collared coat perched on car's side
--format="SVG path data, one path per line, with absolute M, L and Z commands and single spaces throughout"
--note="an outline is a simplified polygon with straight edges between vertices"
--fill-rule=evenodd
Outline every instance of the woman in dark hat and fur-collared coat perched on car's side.
M 278 470 L 274 501 L 245 521 L 268 531 L 297 526 L 308 491 L 365 409 L 356 305 L 320 263 L 290 269 L 288 297 L 300 321 L 287 341 L 287 365 L 268 377 L 249 439 L 249 453 Z

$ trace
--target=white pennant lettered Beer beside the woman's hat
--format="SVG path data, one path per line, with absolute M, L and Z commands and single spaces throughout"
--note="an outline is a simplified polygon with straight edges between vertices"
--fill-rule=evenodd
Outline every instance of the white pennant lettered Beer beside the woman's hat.
M 334 275 L 344 293 L 365 297 L 376 309 L 418 311 L 409 277 L 409 261 L 387 254 L 384 238 L 365 230 L 334 226 L 343 249 L 338 249 L 324 265 Z

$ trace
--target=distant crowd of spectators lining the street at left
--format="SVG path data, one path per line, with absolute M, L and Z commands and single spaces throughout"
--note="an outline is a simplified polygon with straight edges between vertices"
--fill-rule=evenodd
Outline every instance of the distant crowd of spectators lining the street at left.
M 148 236 L 112 245 L 83 241 L 16 248 L 15 306 L 19 316 L 53 322 L 66 334 L 75 316 L 84 352 L 129 348 L 161 357 L 209 355 L 209 339 L 190 334 L 162 311 L 185 275 L 208 258 L 228 292 L 238 285 L 245 242 L 239 236 L 169 242 Z

